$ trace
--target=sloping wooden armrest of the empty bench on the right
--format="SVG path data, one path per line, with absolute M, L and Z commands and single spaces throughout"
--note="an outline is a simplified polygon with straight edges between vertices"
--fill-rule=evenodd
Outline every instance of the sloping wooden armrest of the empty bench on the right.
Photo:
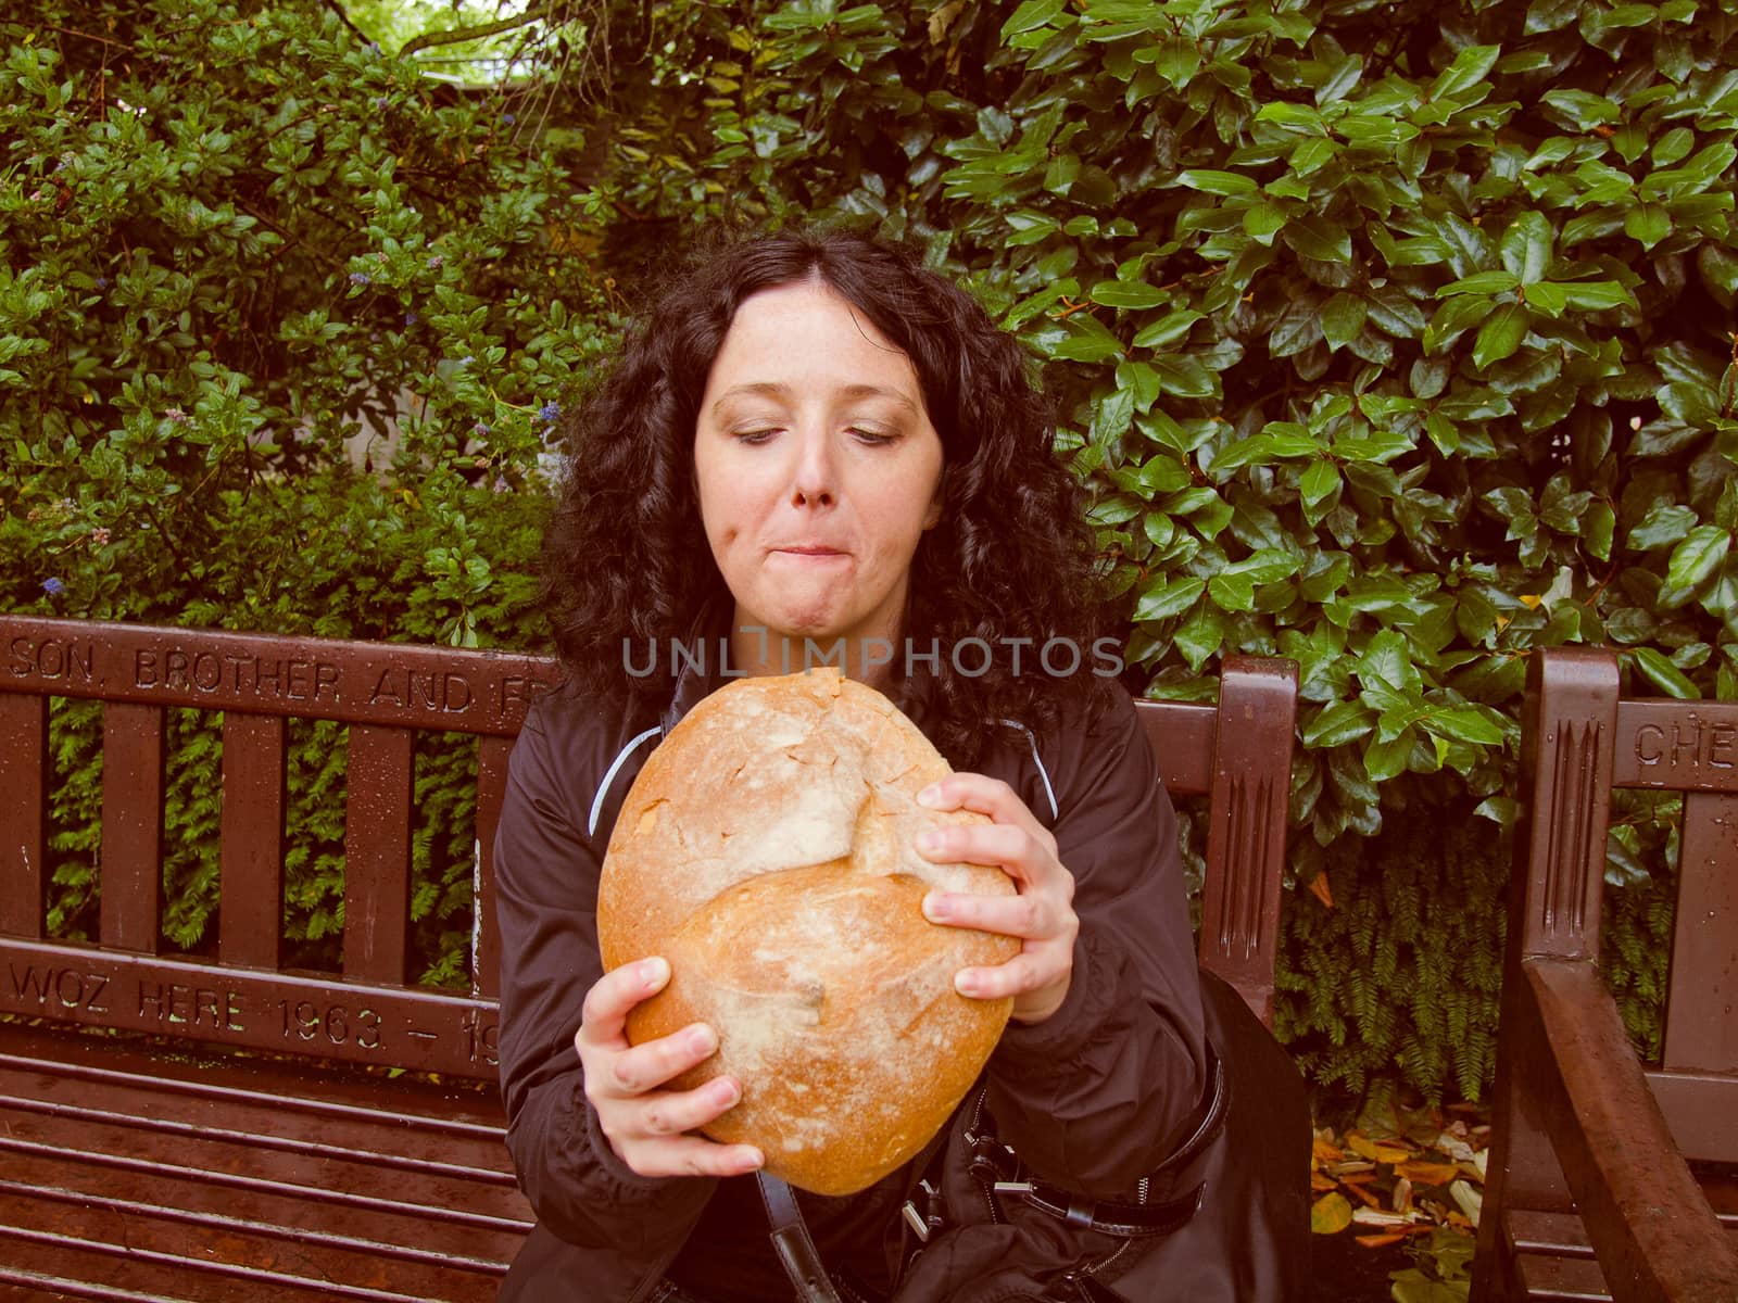
M 1615 1300 L 1738 1298 L 1728 1242 L 1665 1115 L 1616 1004 L 1585 959 L 1528 959 L 1517 1070 Z

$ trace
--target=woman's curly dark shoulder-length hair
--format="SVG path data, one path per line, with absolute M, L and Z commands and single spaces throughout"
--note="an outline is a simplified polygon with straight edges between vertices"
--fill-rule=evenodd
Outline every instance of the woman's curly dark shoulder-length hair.
M 1083 493 L 1055 457 L 1055 422 L 1020 346 L 899 247 L 826 231 L 723 236 L 669 278 L 561 431 L 568 469 L 544 539 L 554 641 L 582 691 L 667 704 L 673 681 L 631 676 L 622 646 L 667 646 L 702 606 L 730 599 L 693 480 L 707 374 L 744 299 L 806 280 L 905 351 L 942 440 L 942 519 L 912 559 L 905 636 L 944 648 L 926 726 L 966 768 L 998 724 L 1051 726 L 1071 695 L 1095 698 L 1104 679 L 1088 672 L 1086 648 L 1100 580 Z M 977 676 L 945 653 L 973 638 L 996 653 Z M 1081 650 L 1078 672 L 1039 671 L 1051 639 Z M 980 658 L 973 648 L 966 667 Z

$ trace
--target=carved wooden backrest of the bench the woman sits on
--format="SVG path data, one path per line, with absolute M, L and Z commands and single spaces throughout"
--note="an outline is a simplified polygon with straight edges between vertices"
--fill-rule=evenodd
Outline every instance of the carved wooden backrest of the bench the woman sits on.
M 495 1075 L 492 846 L 541 657 L 0 617 L 0 1011 L 327 1060 Z M 99 943 L 47 936 L 49 700 L 103 702 Z M 163 954 L 165 711 L 222 712 L 219 949 Z M 1295 669 L 1227 662 L 1218 707 L 1140 705 L 1210 797 L 1201 962 L 1270 1020 Z M 280 964 L 289 718 L 348 726 L 342 975 Z M 415 733 L 478 745 L 469 990 L 407 982 Z

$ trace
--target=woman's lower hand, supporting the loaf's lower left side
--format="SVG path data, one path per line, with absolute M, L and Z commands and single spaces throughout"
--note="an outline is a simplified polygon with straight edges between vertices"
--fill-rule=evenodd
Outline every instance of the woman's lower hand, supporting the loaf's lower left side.
M 640 959 L 605 973 L 586 992 L 574 1048 L 586 1068 L 586 1098 L 615 1155 L 641 1176 L 740 1176 L 756 1171 L 753 1145 L 720 1145 L 700 1134 L 742 1098 L 735 1077 L 714 1077 L 692 1091 L 666 1091 L 664 1082 L 711 1058 L 718 1034 L 706 1023 L 627 1044 L 627 1011 L 669 982 L 669 962 Z

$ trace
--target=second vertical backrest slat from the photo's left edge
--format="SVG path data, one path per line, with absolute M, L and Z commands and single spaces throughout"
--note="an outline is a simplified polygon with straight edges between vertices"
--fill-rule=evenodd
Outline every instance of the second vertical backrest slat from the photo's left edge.
M 103 945 L 158 952 L 163 916 L 163 709 L 103 704 Z

